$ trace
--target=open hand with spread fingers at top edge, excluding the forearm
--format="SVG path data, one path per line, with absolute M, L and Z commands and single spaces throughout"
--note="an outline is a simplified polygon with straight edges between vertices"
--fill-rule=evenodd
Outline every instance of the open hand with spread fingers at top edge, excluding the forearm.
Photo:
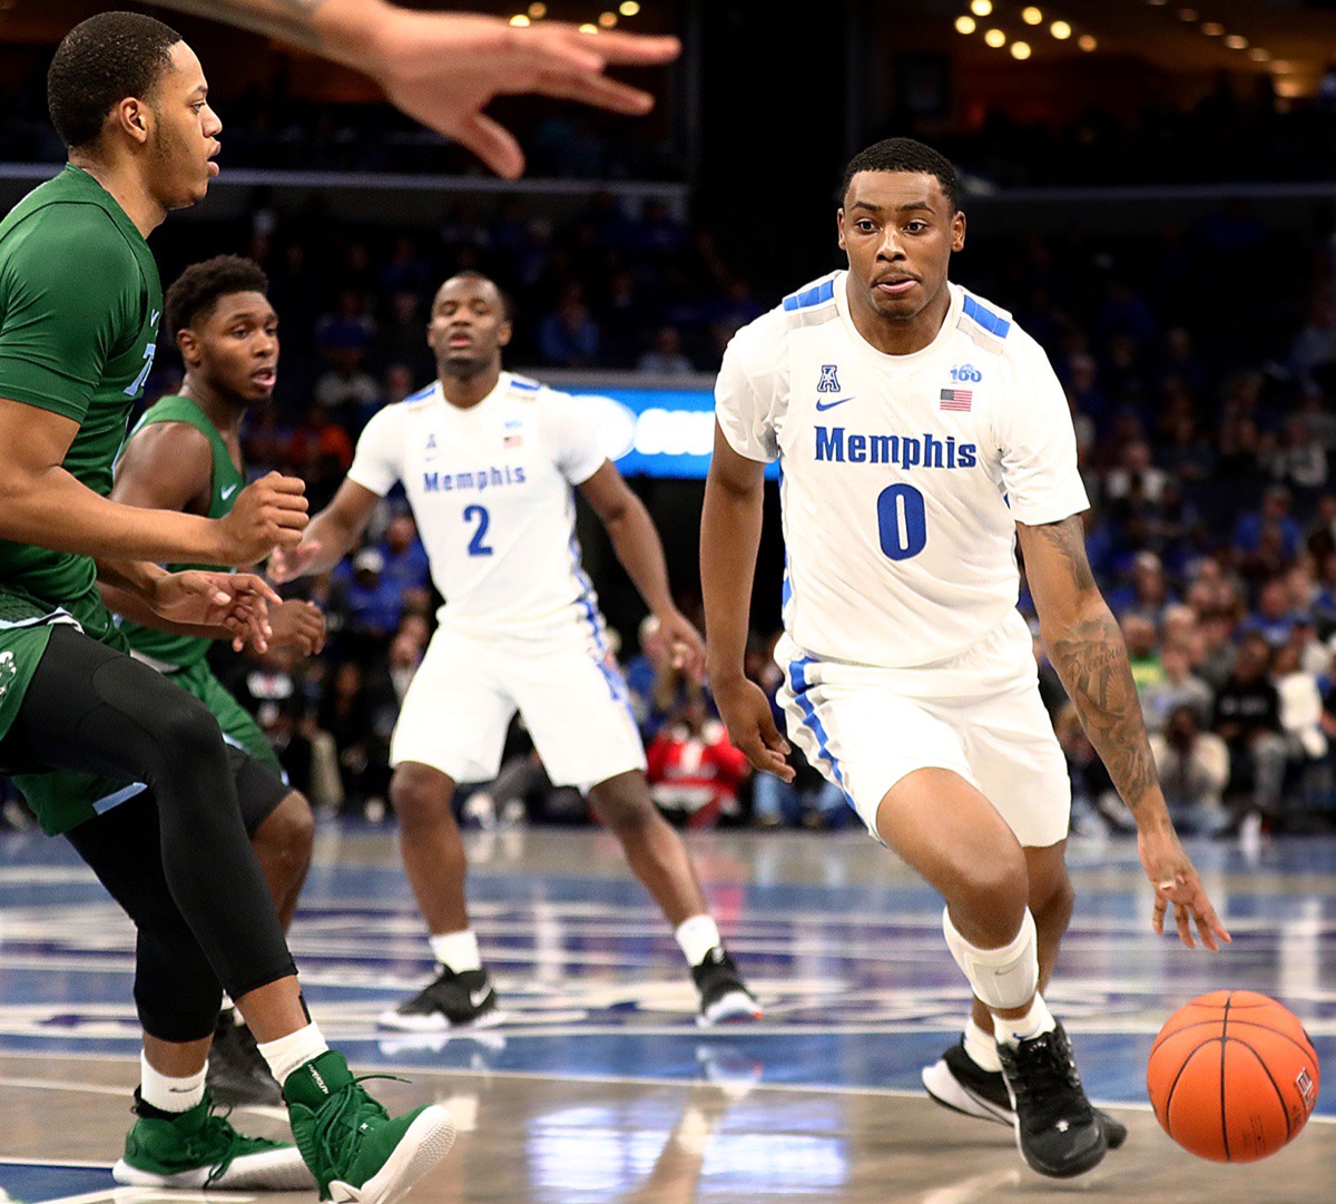
M 335 32 L 330 31 L 331 48 Z M 524 152 L 508 130 L 482 112 L 490 100 L 536 92 L 645 114 L 653 98 L 608 79 L 604 69 L 671 63 L 680 51 L 676 37 L 580 33 L 558 21 L 518 28 L 502 17 L 385 8 L 375 12 L 370 40 L 349 61 L 371 75 L 409 116 L 513 179 L 524 172 Z

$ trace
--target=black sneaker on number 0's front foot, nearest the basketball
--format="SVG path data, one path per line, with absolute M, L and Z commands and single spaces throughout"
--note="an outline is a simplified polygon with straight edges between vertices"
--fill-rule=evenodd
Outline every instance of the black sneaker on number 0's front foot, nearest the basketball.
M 1062 1025 L 1019 1045 L 999 1041 L 998 1057 L 1015 1106 L 1015 1144 L 1030 1167 L 1051 1179 L 1097 1167 L 1109 1143 Z

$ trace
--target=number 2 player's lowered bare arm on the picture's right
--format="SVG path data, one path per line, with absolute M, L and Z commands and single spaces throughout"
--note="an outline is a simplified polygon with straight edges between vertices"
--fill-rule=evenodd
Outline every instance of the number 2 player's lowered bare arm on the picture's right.
M 664 545 L 645 504 L 609 460 L 578 489 L 607 529 L 621 567 L 659 619 L 659 629 L 673 648 L 673 664 L 699 679 L 705 669 L 705 641 L 673 604 Z

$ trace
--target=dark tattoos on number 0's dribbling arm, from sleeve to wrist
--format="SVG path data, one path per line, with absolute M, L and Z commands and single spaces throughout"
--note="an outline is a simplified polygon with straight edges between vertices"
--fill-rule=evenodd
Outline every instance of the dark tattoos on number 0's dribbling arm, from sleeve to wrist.
M 1049 656 L 1114 787 L 1140 820 L 1146 794 L 1156 788 L 1158 778 L 1122 632 L 1096 587 L 1081 521 L 1033 531 L 1061 557 L 1070 573 L 1070 588 L 1086 599 L 1071 621 L 1046 636 Z

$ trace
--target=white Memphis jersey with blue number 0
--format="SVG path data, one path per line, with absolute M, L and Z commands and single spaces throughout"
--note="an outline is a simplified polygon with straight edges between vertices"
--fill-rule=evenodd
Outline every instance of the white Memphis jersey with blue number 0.
M 886 355 L 836 271 L 737 331 L 715 413 L 782 472 L 784 627 L 804 652 L 902 668 L 958 656 L 1015 607 L 1015 522 L 1089 506 L 1066 397 L 1011 317 L 950 286 L 937 338 Z

